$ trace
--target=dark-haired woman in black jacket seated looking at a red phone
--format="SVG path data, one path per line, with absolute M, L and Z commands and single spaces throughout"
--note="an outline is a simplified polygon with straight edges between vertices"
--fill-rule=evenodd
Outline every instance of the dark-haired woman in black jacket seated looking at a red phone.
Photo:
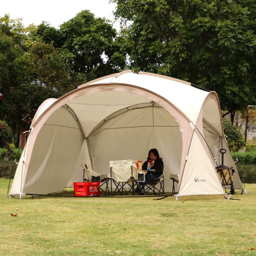
M 140 182 L 140 187 L 136 189 L 136 192 L 138 192 L 139 194 L 144 194 L 144 186 L 147 185 L 149 182 L 154 181 L 156 178 L 160 177 L 163 174 L 164 162 L 162 158 L 159 157 L 159 153 L 156 148 L 152 148 L 149 150 L 147 161 L 145 161 L 142 165 L 142 170 L 147 170 L 149 160 L 153 161 L 150 163 L 151 170 L 155 170 L 156 172 L 154 172 L 154 174 L 147 173 L 145 175 L 145 181 Z

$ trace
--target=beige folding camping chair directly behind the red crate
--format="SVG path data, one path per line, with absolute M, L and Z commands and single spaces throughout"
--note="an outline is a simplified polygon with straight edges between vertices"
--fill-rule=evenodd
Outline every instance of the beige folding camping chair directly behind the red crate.
M 104 196 L 109 196 L 108 181 L 110 174 L 93 172 L 89 164 L 82 164 L 84 168 L 84 182 L 100 182 L 100 193 Z M 87 178 L 85 178 L 85 174 Z M 106 186 L 106 187 L 105 187 Z M 105 188 L 104 188 L 105 187 Z

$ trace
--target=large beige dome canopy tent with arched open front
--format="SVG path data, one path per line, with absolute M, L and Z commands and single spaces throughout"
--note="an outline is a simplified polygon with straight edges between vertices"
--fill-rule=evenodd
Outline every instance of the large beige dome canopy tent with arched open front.
M 169 177 L 177 173 L 179 196 L 224 194 L 215 170 L 220 148 L 227 150 L 225 165 L 236 171 L 235 188 L 243 189 L 224 137 L 216 92 L 127 70 L 41 104 L 10 195 L 63 191 L 82 180 L 81 163 L 105 173 L 109 161 L 143 160 L 150 148 L 157 148 L 164 160 L 165 191 L 172 191 Z

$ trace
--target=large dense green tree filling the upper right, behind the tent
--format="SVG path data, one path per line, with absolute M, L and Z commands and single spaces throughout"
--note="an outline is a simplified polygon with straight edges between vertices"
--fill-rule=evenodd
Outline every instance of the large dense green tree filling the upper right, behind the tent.
M 132 69 L 216 91 L 232 123 L 236 110 L 255 105 L 255 0 L 111 2 Z

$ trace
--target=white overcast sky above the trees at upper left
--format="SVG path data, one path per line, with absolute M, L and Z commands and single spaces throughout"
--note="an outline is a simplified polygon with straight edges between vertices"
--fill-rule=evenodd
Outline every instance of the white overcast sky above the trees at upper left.
M 47 21 L 52 27 L 75 17 L 82 10 L 91 11 L 95 17 L 105 17 L 114 21 L 112 11 L 116 4 L 109 4 L 109 0 L 0 0 L 0 16 L 9 13 L 11 19 L 22 18 L 23 24 L 39 25 Z M 118 22 L 114 23 L 118 30 Z

